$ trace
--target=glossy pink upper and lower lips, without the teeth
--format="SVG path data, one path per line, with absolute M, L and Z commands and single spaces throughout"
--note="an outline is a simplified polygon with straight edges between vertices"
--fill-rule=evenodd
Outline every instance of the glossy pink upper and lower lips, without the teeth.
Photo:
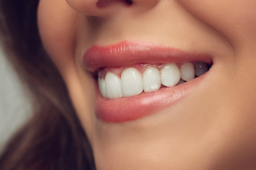
M 210 55 L 183 52 L 171 47 L 155 45 L 149 42 L 123 41 L 109 46 L 90 47 L 82 57 L 85 67 L 95 72 L 102 67 L 121 67 L 132 64 L 157 64 L 181 62 L 206 62 L 212 64 Z M 171 88 L 142 93 L 126 98 L 103 98 L 98 88 L 95 92 L 95 114 L 107 123 L 122 123 L 151 115 L 181 101 L 205 75 Z

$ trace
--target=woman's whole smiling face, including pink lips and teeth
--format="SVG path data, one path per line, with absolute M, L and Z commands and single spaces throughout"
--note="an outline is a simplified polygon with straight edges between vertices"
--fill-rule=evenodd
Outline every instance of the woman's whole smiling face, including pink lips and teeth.
M 43 45 L 97 169 L 256 167 L 255 9 L 254 0 L 40 1 Z M 185 84 L 161 85 L 162 77 L 193 74 L 189 63 L 178 74 L 184 62 L 211 67 Z M 150 82 L 158 87 L 145 92 Z

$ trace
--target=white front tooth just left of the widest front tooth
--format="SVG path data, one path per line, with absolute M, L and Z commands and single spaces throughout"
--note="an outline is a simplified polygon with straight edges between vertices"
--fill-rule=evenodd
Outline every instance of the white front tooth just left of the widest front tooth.
M 121 98 L 121 80 L 112 72 L 108 72 L 105 77 L 105 89 L 107 98 Z

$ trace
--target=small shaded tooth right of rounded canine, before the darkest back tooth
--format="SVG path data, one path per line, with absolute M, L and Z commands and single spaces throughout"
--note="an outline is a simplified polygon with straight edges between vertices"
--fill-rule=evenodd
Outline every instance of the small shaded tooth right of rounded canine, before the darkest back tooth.
M 192 80 L 195 77 L 195 69 L 193 67 L 193 63 L 191 62 L 185 62 L 181 66 L 180 71 L 181 71 L 181 79 L 185 81 Z

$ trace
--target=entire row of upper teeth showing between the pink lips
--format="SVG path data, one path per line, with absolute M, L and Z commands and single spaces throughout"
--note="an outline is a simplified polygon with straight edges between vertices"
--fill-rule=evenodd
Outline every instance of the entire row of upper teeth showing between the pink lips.
M 161 67 L 148 67 L 143 75 L 135 68 L 127 68 L 121 74 L 121 78 L 112 72 L 107 72 L 105 79 L 99 74 L 98 85 L 100 94 L 104 98 L 121 98 L 136 96 L 145 92 L 157 91 L 164 86 L 175 86 L 194 79 L 208 72 L 205 62 L 198 62 L 195 66 L 191 62 L 185 62 L 178 69 L 175 63 L 166 63 Z

